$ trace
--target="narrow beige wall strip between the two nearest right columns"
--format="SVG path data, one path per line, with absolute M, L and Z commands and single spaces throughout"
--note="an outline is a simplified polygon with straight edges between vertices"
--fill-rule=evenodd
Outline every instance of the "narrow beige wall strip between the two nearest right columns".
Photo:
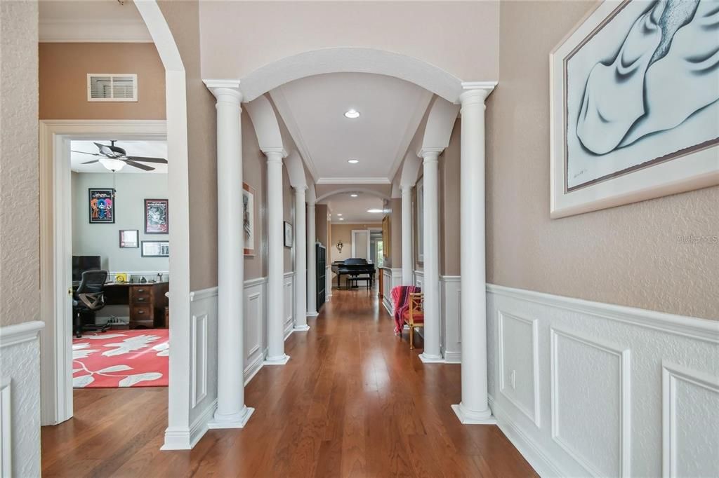
M 459 276 L 459 132 L 454 123 L 449 146 L 439 159 L 439 273 Z

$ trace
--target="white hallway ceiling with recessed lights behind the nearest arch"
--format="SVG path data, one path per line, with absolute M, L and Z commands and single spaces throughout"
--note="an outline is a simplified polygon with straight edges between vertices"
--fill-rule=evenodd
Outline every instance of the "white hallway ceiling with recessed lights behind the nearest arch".
M 270 95 L 318 184 L 390 184 L 431 100 L 417 85 L 370 73 L 301 78 Z M 350 108 L 359 118 L 344 117 Z

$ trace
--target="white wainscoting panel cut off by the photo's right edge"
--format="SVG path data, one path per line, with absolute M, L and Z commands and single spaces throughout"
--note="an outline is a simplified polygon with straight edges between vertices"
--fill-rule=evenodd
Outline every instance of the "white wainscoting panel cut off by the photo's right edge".
M 661 375 L 662 475 L 719 477 L 719 378 L 670 362 Z

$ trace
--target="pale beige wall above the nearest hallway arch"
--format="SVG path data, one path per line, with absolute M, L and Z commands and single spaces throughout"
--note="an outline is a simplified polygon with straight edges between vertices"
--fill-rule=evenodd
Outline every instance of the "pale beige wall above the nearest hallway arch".
M 203 1 L 203 73 L 242 78 L 300 52 L 367 47 L 492 80 L 498 16 L 497 1 Z

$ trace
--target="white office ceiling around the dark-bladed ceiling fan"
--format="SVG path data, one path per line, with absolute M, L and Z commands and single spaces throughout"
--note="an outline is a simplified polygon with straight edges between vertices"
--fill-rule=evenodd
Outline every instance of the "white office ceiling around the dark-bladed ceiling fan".
M 70 149 L 73 151 L 86 151 L 88 153 L 97 153 L 98 149 L 95 143 L 110 144 L 109 140 L 97 141 L 70 141 Z M 115 146 L 119 146 L 127 151 L 128 156 L 146 156 L 150 158 L 168 159 L 168 144 L 166 141 L 115 141 Z M 109 173 L 100 163 L 83 164 L 85 161 L 99 159 L 99 156 L 89 156 L 88 154 L 70 153 L 70 169 L 74 172 L 83 173 Z M 146 173 L 157 174 L 168 172 L 167 164 L 142 163 L 155 168 L 155 171 L 143 171 L 142 169 L 126 165 L 118 174 L 126 173 Z

